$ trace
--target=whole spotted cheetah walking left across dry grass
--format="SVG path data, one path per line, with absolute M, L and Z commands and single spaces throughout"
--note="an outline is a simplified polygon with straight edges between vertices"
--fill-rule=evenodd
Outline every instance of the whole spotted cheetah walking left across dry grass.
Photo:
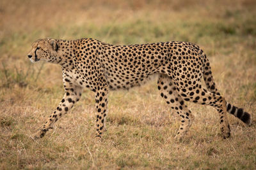
M 158 76 L 159 94 L 180 116 L 175 138 L 188 132 L 194 116 L 185 101 L 213 106 L 220 116 L 223 138 L 230 137 L 227 112 L 250 125 L 252 116 L 227 103 L 217 90 L 209 60 L 199 46 L 180 41 L 141 45 L 109 45 L 97 39 L 38 39 L 28 53 L 31 62 L 44 60 L 60 64 L 65 94 L 47 122 L 33 138 L 43 138 L 54 123 L 79 101 L 83 88 L 95 93 L 96 137 L 104 131 L 108 92 L 141 85 L 153 74 Z M 207 88 L 202 86 L 204 78 Z

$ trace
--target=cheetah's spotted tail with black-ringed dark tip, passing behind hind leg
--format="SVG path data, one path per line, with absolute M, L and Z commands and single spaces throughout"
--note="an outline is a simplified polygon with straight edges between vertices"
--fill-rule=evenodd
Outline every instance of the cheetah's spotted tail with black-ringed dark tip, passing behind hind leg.
M 207 89 L 216 94 L 220 95 L 220 92 L 218 92 L 216 85 L 212 78 L 212 72 L 211 72 L 211 66 L 209 60 L 206 58 L 206 55 L 204 54 L 204 81 L 207 86 Z M 228 113 L 234 115 L 235 117 L 239 118 L 241 121 L 244 122 L 244 124 L 250 125 L 252 124 L 252 115 L 250 113 L 247 113 L 242 108 L 237 108 L 236 106 L 230 104 L 227 102 L 227 111 Z

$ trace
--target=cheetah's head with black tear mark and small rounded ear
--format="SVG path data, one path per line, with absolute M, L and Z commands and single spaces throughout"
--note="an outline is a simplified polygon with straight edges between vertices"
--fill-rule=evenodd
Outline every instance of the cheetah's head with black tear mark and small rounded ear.
M 45 60 L 47 62 L 54 62 L 58 52 L 58 43 L 55 39 L 45 38 L 36 40 L 32 49 L 28 53 L 28 58 L 31 62 L 38 60 Z

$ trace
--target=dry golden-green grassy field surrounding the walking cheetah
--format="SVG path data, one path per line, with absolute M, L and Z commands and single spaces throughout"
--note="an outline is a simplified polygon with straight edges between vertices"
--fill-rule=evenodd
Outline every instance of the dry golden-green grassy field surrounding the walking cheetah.
M 0 169 L 255 169 L 256 2 L 0 1 Z M 63 97 L 61 67 L 31 64 L 39 38 L 96 38 L 115 45 L 191 41 L 207 53 L 214 80 L 230 103 L 252 113 L 246 127 L 228 115 L 188 103 L 195 122 L 182 141 L 179 118 L 156 80 L 109 95 L 107 132 L 95 143 L 93 92 L 38 141 L 29 136 Z

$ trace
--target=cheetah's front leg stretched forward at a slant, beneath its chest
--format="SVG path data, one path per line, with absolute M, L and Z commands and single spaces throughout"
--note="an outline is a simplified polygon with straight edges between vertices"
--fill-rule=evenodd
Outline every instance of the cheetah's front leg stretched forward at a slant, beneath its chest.
M 40 127 L 40 129 L 33 134 L 33 139 L 43 138 L 45 133 L 52 129 L 52 126 L 62 115 L 67 114 L 68 110 L 70 110 L 76 101 L 79 101 L 82 94 L 82 87 L 77 87 L 74 85 L 65 85 L 65 94 L 60 104 L 57 106 L 56 110 L 50 115 L 45 124 Z

